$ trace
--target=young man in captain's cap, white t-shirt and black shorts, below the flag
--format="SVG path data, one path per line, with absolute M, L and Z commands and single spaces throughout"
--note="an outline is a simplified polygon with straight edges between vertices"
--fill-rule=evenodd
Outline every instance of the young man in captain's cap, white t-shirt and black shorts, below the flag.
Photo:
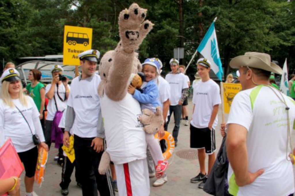
M 215 126 L 220 99 L 218 84 L 209 77 L 211 63 L 201 58 L 197 62 L 198 74 L 201 82 L 194 86 L 193 116 L 190 126 L 190 147 L 198 149 L 200 173 L 191 179 L 192 183 L 202 181 L 199 188 L 203 188 L 207 180 L 205 169 L 206 154 L 208 155 L 208 174 L 215 161 Z

